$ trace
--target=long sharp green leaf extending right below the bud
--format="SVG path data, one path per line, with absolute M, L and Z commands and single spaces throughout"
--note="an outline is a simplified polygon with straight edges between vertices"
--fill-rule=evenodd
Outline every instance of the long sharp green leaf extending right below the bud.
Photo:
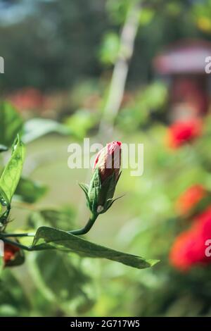
M 139 256 L 122 253 L 107 247 L 88 242 L 81 237 L 53 227 L 39 227 L 34 237 L 32 250 L 63 249 L 90 258 L 107 258 L 134 268 L 149 268 L 158 260 L 145 260 Z

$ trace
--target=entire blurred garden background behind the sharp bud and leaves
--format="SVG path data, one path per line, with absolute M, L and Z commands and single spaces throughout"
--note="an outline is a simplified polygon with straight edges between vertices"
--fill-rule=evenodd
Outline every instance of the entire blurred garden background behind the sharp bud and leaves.
M 1 275 L 0 316 L 211 316 L 211 1 L 1 0 L 0 56 L 27 144 L 9 230 L 86 222 L 91 170 L 68 168 L 70 143 L 142 143 L 143 175 L 123 170 L 87 238 L 160 259 L 26 254 Z

